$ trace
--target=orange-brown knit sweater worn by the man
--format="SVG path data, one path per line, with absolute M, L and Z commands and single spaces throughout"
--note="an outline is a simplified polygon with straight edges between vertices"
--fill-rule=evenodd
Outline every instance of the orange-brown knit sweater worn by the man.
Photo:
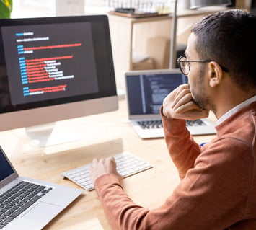
M 133 203 L 112 174 L 99 177 L 94 186 L 112 229 L 255 230 L 255 109 L 253 102 L 231 115 L 203 147 L 184 120 L 162 117 L 180 184 L 163 205 L 149 210 Z

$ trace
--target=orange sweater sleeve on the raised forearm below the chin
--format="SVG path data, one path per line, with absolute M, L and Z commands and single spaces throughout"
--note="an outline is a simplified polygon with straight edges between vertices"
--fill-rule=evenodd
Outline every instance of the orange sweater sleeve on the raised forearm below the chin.
M 167 149 L 182 179 L 187 170 L 194 167 L 195 159 L 200 154 L 200 146 L 190 136 L 185 120 L 167 119 L 162 114 L 162 108 L 160 112 Z

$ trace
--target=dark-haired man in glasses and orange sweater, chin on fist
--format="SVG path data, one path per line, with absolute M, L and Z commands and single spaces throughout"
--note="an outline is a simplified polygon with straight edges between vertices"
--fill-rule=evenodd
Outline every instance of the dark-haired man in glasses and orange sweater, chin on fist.
M 218 12 L 192 29 L 178 59 L 189 84 L 161 109 L 165 139 L 180 184 L 154 210 L 133 203 L 112 158 L 93 160 L 94 187 L 112 229 L 256 229 L 256 17 Z M 216 138 L 200 147 L 184 119 L 218 119 Z M 146 193 L 146 191 L 145 191 Z

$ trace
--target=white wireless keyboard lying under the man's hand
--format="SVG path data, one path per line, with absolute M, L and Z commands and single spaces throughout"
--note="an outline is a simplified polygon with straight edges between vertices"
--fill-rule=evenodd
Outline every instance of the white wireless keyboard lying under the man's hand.
M 123 178 L 129 177 L 152 167 L 148 162 L 145 162 L 143 159 L 140 159 L 138 156 L 135 156 L 127 151 L 113 157 L 115 158 L 115 162 L 117 164 L 118 173 Z M 89 176 L 89 165 L 91 164 L 85 164 L 84 166 L 76 169 L 63 172 L 61 175 L 88 191 L 94 190 L 94 185 L 92 184 L 92 180 Z

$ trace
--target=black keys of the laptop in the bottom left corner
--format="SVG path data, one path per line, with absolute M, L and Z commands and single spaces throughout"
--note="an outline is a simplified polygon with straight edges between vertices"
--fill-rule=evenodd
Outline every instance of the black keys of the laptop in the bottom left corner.
M 0 229 L 23 213 L 33 203 L 52 190 L 52 187 L 21 181 L 0 195 Z

